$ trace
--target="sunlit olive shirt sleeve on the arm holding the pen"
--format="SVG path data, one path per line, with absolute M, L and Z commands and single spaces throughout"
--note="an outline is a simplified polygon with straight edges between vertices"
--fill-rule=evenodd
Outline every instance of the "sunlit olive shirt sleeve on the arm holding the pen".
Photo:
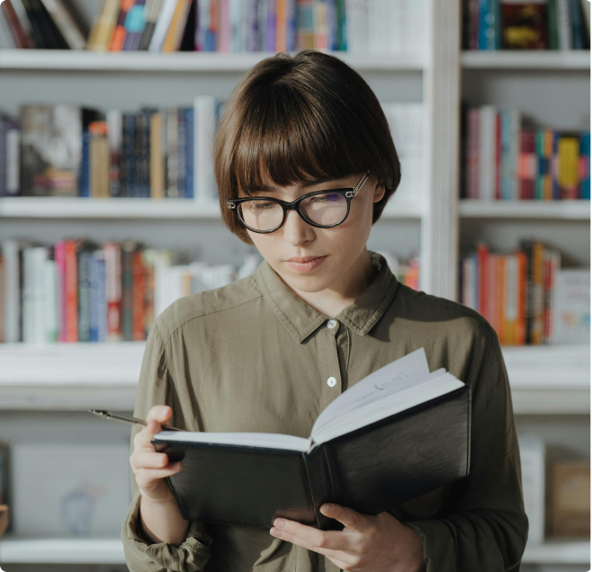
M 138 393 L 134 417 L 146 419 L 148 411 L 155 405 L 173 408 L 170 424 L 186 426 L 182 408 L 178 407 L 175 385 L 166 367 L 165 348 L 157 325 L 152 326 L 144 352 L 139 375 Z M 133 440 L 142 430 L 133 425 L 130 437 L 130 455 Z M 123 552 L 130 572 L 198 572 L 210 559 L 211 537 L 204 531 L 202 523 L 191 523 L 187 538 L 178 546 L 166 542 L 153 544 L 142 536 L 139 515 L 139 487 L 130 471 L 132 502 L 121 527 Z

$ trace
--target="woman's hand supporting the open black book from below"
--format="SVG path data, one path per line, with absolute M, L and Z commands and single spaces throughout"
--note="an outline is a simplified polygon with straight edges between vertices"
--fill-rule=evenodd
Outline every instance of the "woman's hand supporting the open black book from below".
M 391 514 L 368 516 L 339 505 L 322 505 L 320 512 L 344 524 L 345 529 L 319 531 L 278 518 L 270 533 L 327 556 L 347 572 L 425 572 L 419 535 Z

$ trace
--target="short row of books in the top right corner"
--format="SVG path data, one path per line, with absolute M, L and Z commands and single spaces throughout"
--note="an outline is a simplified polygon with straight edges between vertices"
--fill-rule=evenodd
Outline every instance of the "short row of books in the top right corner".
M 589 0 L 464 0 L 463 49 L 589 49 Z

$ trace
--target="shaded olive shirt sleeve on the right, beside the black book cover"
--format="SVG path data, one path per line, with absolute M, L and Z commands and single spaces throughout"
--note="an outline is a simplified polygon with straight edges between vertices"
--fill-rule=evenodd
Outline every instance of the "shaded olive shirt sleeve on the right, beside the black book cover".
M 498 335 L 476 341 L 471 383 L 471 466 L 452 486 L 442 518 L 412 521 L 427 572 L 517 572 L 528 533 L 519 449 L 507 370 Z

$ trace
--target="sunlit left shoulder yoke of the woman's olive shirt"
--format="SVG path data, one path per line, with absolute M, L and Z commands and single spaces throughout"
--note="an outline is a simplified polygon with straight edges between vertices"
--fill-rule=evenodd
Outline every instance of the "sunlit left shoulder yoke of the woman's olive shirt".
M 262 298 L 252 276 L 226 286 L 203 290 L 178 299 L 157 317 L 155 326 L 166 344 L 176 330 L 213 314 L 240 313 L 248 304 Z

